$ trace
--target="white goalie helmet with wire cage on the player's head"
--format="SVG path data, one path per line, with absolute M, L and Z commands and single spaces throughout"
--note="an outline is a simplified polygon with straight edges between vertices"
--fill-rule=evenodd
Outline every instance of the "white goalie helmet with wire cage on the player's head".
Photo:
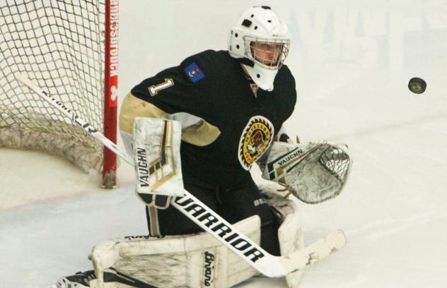
M 242 13 L 228 37 L 228 52 L 242 61 L 245 71 L 262 90 L 273 90 L 274 78 L 289 53 L 286 24 L 269 6 L 255 6 Z

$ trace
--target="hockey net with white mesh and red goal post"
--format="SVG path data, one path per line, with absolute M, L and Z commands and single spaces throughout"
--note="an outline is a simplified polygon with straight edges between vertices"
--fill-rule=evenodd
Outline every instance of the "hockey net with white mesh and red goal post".
M 115 185 L 116 157 L 19 84 L 23 73 L 116 142 L 117 1 L 0 6 L 0 145 L 59 155 Z

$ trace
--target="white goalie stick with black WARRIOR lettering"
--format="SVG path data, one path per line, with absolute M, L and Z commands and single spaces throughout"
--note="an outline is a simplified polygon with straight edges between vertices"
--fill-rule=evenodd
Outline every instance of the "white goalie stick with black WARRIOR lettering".
M 29 78 L 21 74 L 16 75 L 16 78 L 42 97 L 42 99 L 52 104 L 62 114 L 69 117 L 71 121 L 81 126 L 112 152 L 115 152 L 122 160 L 132 166 L 134 165 L 132 157 L 122 152 L 115 143 L 112 143 L 93 126 L 66 108 L 62 102 L 55 100 L 54 97 L 35 85 Z M 202 201 L 195 198 L 195 196 L 192 196 L 190 192 L 183 189 L 183 193 L 184 196 L 173 198 L 170 204 L 267 277 L 283 277 L 291 272 L 306 268 L 308 265 L 329 256 L 346 244 L 346 238 L 342 230 L 337 230 L 294 253 L 286 256 L 272 256 L 247 236 L 238 232 L 232 224 L 224 220 Z

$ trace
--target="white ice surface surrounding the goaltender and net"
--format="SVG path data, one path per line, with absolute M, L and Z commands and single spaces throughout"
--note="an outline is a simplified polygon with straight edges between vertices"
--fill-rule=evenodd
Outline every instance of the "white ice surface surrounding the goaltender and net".
M 254 4 L 291 31 L 298 104 L 287 130 L 347 143 L 354 157 L 341 196 L 300 205 L 306 244 L 338 228 L 349 242 L 301 287 L 447 287 L 447 1 L 121 1 L 121 100 L 190 54 L 226 49 L 228 27 Z M 407 89 L 414 76 L 422 95 Z M 0 287 L 47 287 L 91 269 L 98 241 L 147 234 L 132 169 L 118 173 L 120 188 L 104 191 L 65 160 L 1 149 Z

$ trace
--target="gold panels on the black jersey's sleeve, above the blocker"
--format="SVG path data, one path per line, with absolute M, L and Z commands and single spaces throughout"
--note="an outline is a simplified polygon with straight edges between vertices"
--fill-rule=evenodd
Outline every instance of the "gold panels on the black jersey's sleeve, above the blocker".
M 120 112 L 120 131 L 132 134 L 136 117 L 163 118 L 167 114 L 155 105 L 141 100 L 129 93 L 122 102 Z M 219 128 L 201 120 L 182 129 L 182 140 L 197 146 L 213 143 L 221 134 Z

